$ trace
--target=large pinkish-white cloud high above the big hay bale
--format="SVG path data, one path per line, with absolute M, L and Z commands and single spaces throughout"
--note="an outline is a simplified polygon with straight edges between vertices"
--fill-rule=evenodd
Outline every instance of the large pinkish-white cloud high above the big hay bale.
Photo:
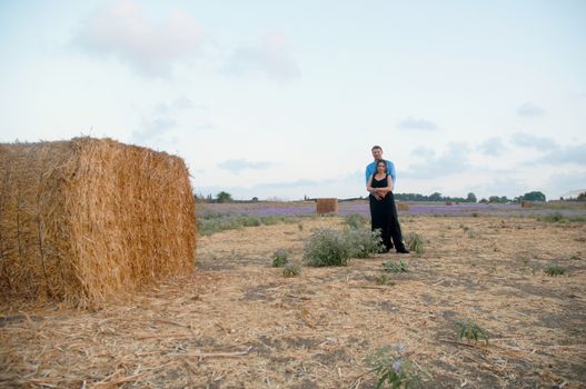
M 155 24 L 145 20 L 137 3 L 119 0 L 89 14 L 73 42 L 96 57 L 115 57 L 142 74 L 167 77 L 175 61 L 199 49 L 201 31 L 189 13 L 176 11 Z

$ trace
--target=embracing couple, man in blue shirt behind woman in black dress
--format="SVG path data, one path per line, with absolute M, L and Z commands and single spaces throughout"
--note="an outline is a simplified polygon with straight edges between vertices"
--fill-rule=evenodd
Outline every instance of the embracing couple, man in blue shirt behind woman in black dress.
M 371 149 L 375 161 L 366 167 L 366 189 L 370 192 L 370 221 L 373 231 L 380 230 L 385 252 L 395 247 L 399 253 L 409 253 L 403 243 L 399 218 L 395 207 L 393 186 L 396 179 L 393 162 L 383 159 L 383 148 Z

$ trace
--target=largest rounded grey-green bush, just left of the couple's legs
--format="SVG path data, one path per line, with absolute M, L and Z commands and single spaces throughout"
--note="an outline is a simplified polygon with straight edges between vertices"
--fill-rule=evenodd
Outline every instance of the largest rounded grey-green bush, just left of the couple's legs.
M 309 236 L 304 261 L 309 266 L 347 266 L 350 248 L 340 231 L 320 228 Z

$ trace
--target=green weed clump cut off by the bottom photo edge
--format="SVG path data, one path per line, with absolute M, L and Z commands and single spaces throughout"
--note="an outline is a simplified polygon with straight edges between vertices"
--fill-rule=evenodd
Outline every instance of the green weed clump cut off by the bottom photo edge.
M 367 357 L 366 361 L 377 375 L 377 389 L 387 383 L 394 389 L 417 388 L 421 385 L 419 369 L 405 355 L 405 346 L 401 343 L 377 349 Z

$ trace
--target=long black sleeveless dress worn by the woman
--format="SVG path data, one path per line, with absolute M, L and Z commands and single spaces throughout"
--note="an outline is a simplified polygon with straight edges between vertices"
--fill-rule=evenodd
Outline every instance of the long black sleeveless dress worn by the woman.
M 378 181 L 373 176 L 373 188 L 386 188 L 388 186 L 389 176 Z M 399 221 L 397 217 L 397 209 L 395 208 L 395 198 L 393 192 L 388 192 L 383 199 L 377 200 L 373 194 L 370 199 L 370 221 L 373 231 L 380 229 L 380 237 L 385 245 L 386 251 L 393 249 L 393 242 L 398 248 L 403 247 L 403 237 L 399 230 Z M 391 241 L 393 239 L 393 241 Z

